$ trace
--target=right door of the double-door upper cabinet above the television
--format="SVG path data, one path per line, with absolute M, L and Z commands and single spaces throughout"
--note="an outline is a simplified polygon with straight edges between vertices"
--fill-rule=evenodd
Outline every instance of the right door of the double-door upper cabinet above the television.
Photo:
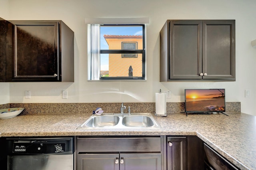
M 235 21 L 203 21 L 203 79 L 235 79 Z

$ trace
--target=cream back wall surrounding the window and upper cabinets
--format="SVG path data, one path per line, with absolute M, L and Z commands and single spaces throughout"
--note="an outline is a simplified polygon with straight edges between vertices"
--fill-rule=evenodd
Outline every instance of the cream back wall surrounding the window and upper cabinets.
M 74 83 L 10 83 L 10 103 L 154 102 L 158 89 L 168 102 L 184 102 L 186 88 L 225 88 L 227 102 L 241 102 L 251 115 L 256 104 L 255 0 L 9 0 L 9 20 L 63 20 L 75 34 Z M 87 81 L 87 27 L 84 18 L 149 17 L 146 81 Z M 168 19 L 236 20 L 235 82 L 159 82 L 159 32 Z M 250 98 L 244 90 L 250 89 Z M 31 99 L 24 91 L 31 90 Z M 62 90 L 68 99 L 62 99 Z

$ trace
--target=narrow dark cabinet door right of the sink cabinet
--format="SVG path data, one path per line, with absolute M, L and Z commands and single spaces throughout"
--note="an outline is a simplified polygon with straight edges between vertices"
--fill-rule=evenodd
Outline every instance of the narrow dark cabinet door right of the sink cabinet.
M 186 170 L 186 137 L 167 137 L 167 170 Z

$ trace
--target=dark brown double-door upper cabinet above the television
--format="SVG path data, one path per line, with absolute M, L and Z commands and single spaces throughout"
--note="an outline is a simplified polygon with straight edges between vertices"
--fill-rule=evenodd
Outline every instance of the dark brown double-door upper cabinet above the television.
M 235 81 L 235 20 L 167 20 L 160 81 Z

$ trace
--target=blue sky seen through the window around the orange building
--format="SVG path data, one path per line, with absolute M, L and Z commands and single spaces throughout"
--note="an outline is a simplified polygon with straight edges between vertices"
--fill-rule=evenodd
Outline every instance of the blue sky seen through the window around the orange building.
M 104 35 L 116 36 L 142 36 L 142 26 L 101 26 L 100 49 L 108 49 Z M 108 70 L 108 54 L 100 55 L 100 70 Z

